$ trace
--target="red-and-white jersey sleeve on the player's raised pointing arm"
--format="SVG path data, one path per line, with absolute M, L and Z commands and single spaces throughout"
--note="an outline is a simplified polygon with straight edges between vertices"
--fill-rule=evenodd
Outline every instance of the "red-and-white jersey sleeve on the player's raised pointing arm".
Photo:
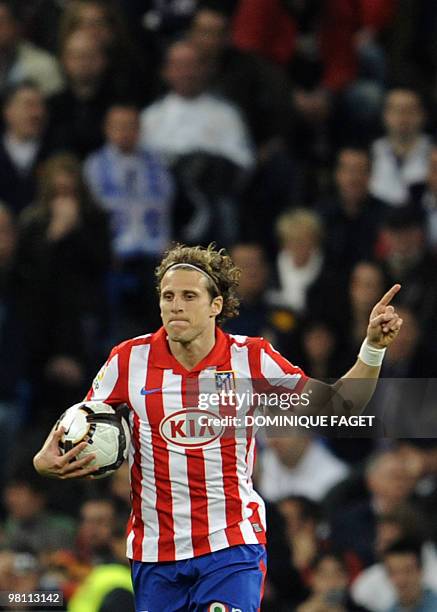
M 308 376 L 262 340 L 260 349 L 262 386 L 269 393 L 301 393 Z

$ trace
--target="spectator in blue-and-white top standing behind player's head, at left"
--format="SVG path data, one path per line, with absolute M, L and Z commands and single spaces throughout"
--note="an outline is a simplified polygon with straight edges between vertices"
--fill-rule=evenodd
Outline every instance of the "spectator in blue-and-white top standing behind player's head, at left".
M 139 143 L 139 112 L 127 104 L 106 114 L 104 146 L 84 165 L 88 186 L 107 211 L 115 270 L 113 315 L 117 338 L 136 335 L 157 319 L 150 301 L 153 270 L 172 236 L 173 179 L 159 156 Z

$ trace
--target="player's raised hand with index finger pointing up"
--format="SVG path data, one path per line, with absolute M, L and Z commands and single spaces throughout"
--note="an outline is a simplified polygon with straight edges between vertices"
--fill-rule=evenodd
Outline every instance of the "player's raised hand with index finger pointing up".
M 370 313 L 367 342 L 375 348 L 381 349 L 389 346 L 401 329 L 403 321 L 394 307 L 390 306 L 390 302 L 400 288 L 400 285 L 393 285 Z

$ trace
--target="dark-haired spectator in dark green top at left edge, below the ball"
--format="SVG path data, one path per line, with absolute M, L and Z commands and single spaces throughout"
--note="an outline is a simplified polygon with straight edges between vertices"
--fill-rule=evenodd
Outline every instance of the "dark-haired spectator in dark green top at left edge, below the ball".
M 42 550 L 73 547 L 75 522 L 47 507 L 41 482 L 29 470 L 9 477 L 3 488 L 3 504 L 6 516 L 2 532 L 9 548 L 38 555 Z

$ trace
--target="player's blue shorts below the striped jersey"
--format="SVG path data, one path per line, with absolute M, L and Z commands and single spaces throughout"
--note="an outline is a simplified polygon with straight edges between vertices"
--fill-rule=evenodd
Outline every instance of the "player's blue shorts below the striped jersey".
M 262 544 L 182 561 L 132 561 L 136 612 L 257 612 L 266 572 Z

